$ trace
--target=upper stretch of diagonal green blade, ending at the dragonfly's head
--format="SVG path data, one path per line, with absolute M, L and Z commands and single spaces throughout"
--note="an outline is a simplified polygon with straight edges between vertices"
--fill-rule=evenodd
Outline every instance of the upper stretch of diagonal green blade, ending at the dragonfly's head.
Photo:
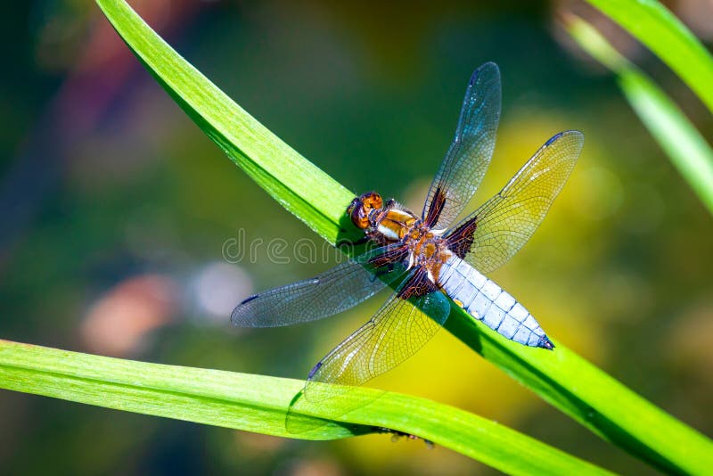
M 156 35 L 126 2 L 99 0 L 97 4 L 146 69 L 236 165 L 317 234 L 330 242 L 337 240 L 340 217 L 354 193 L 244 111 Z

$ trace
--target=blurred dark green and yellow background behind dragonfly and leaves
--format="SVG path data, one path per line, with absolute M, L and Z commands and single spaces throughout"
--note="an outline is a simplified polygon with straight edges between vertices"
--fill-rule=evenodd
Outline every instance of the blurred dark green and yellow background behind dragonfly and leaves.
M 497 62 L 503 115 L 472 208 L 551 135 L 576 128 L 586 144 L 545 223 L 496 282 L 548 333 L 713 435 L 713 222 L 610 74 L 556 19 L 574 10 L 592 21 L 710 138 L 713 118 L 701 103 L 626 34 L 578 2 L 132 4 L 340 183 L 416 210 L 472 70 Z M 713 29 L 701 18 L 711 18 L 713 5 L 668 7 L 710 42 Z M 377 298 L 291 328 L 232 328 L 230 311 L 252 291 L 314 275 L 336 254 L 307 263 L 292 256 L 307 242 L 321 255 L 322 242 L 225 159 L 94 3 L 36 0 L 4 9 L 1 338 L 304 378 L 379 306 Z M 271 259 L 275 239 L 284 240 L 278 253 L 287 262 Z M 224 258 L 226 243 L 234 242 L 246 253 L 228 262 L 235 260 Z M 372 385 L 462 407 L 614 471 L 652 472 L 447 332 Z M 8 391 L 0 391 L 0 422 L 0 468 L 8 473 L 492 472 L 447 449 L 386 435 L 276 439 Z

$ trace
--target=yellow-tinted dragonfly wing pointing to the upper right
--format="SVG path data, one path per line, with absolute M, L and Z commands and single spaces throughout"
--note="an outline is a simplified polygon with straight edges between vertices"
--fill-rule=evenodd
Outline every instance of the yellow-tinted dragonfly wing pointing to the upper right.
M 448 247 L 481 273 L 512 258 L 535 233 L 582 151 L 579 131 L 554 135 L 500 193 L 447 233 Z

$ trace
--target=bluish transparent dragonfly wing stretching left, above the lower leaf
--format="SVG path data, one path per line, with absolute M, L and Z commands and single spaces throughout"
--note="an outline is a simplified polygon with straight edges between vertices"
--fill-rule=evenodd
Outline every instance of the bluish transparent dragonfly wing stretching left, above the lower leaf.
M 250 296 L 230 319 L 241 327 L 276 327 L 332 316 L 396 282 L 405 258 L 400 244 L 366 252 L 311 279 Z

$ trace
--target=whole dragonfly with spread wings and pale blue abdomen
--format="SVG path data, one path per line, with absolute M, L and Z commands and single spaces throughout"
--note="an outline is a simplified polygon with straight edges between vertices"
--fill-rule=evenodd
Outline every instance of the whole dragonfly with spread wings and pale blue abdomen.
M 554 348 L 527 308 L 486 275 L 540 225 L 578 160 L 584 135 L 554 135 L 499 193 L 456 222 L 490 164 L 501 94 L 495 63 L 473 72 L 455 138 L 420 215 L 379 193 L 356 197 L 346 212 L 375 248 L 311 279 L 250 296 L 234 309 L 236 325 L 282 326 L 332 316 L 394 289 L 368 322 L 308 373 L 307 399 L 320 382 L 362 385 L 413 356 L 446 323 L 451 301 L 504 339 Z

